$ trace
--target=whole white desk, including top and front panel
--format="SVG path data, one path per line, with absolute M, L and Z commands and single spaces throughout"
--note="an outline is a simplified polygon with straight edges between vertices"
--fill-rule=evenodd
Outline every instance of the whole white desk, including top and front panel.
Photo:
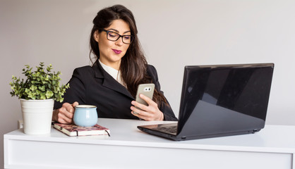
M 295 169 L 295 126 L 256 134 L 174 142 L 145 134 L 142 120 L 102 119 L 111 137 L 68 137 L 23 130 L 4 134 L 5 168 L 279 168 Z

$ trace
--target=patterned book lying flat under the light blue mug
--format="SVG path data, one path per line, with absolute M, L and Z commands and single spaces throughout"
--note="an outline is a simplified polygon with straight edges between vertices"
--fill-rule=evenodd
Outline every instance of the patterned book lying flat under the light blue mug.
M 94 125 L 92 127 L 80 127 L 77 125 L 68 125 L 61 123 L 54 123 L 54 128 L 67 134 L 68 136 L 90 136 L 90 135 L 106 135 L 110 136 L 109 129 L 101 125 Z

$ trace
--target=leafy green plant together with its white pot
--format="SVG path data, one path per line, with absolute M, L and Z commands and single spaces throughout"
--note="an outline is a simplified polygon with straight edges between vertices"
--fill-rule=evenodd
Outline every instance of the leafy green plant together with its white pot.
M 32 71 L 25 65 L 23 74 L 26 80 L 12 76 L 10 82 L 11 96 L 18 96 L 23 113 L 25 134 L 47 134 L 51 130 L 54 100 L 63 101 L 64 93 L 69 84 L 60 84 L 61 72 L 52 73 L 52 65 L 44 69 L 44 63 Z

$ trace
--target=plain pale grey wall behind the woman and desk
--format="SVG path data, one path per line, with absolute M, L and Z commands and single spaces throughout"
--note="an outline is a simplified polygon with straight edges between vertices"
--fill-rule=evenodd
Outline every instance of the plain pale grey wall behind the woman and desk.
M 295 1 L 0 0 L 1 145 L 21 119 L 20 103 L 9 94 L 11 75 L 44 61 L 68 82 L 74 68 L 90 64 L 92 18 L 113 4 L 133 11 L 148 62 L 176 115 L 184 65 L 272 62 L 267 124 L 295 125 Z

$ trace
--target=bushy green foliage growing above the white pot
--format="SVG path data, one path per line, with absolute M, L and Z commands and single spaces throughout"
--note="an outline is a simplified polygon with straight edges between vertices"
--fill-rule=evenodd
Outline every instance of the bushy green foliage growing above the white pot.
M 10 82 L 12 92 L 11 96 L 18 96 L 19 99 L 54 99 L 64 101 L 64 93 L 69 88 L 69 84 L 60 85 L 61 72 L 52 73 L 52 64 L 44 70 L 44 63 L 36 66 L 37 70 L 32 71 L 30 65 L 25 65 L 23 74 L 27 80 L 20 80 L 20 77 L 12 76 L 13 82 Z

